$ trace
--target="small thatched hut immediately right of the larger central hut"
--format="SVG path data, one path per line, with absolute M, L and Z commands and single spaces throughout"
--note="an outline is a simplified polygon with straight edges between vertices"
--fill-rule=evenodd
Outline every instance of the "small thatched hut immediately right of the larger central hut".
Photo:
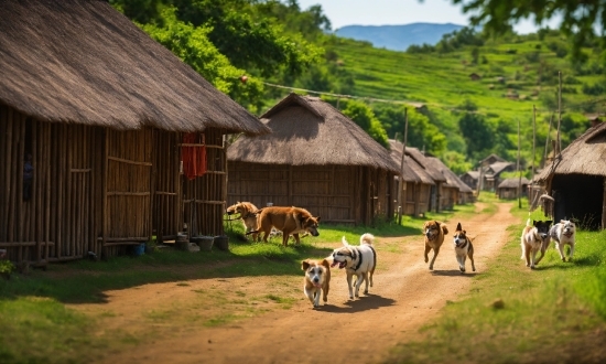
M 389 140 L 391 147 L 391 158 L 402 167 L 401 175 L 397 175 L 394 196 L 398 196 L 399 188 L 402 189 L 402 214 L 419 216 L 430 210 L 430 199 L 432 186 L 435 185 L 431 175 L 410 156 L 404 156 L 402 165 L 403 144 L 397 140 Z M 408 149 L 408 148 L 407 148 Z M 399 181 L 403 184 L 400 184 Z

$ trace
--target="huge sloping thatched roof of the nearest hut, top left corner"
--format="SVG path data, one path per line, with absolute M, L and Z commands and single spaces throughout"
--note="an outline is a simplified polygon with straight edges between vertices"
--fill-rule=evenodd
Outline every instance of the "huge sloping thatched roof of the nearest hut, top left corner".
M 0 0 L 0 104 L 43 121 L 267 128 L 102 0 Z

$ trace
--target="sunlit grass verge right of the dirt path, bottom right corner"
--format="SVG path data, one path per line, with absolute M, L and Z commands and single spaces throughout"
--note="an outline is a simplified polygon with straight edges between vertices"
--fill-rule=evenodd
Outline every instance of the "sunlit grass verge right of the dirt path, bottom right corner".
M 512 213 L 509 243 L 422 329 L 423 341 L 398 345 L 387 363 L 597 363 L 606 332 L 606 232 L 577 233 L 572 263 L 551 248 L 535 270 L 520 259 L 528 201 Z M 534 211 L 531 218 L 545 220 Z M 502 308 L 500 308 L 502 304 Z

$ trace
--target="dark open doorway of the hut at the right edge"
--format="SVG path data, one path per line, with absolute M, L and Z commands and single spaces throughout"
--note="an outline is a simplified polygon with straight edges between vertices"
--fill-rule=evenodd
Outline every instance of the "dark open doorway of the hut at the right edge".
M 556 174 L 552 195 L 555 200 L 554 221 L 577 218 L 584 228 L 596 229 L 602 224 L 604 178 L 586 174 Z

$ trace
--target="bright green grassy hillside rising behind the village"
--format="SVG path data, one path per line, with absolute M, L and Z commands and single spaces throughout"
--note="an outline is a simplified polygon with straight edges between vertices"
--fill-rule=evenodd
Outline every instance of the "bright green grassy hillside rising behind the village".
M 600 111 L 602 63 L 586 50 L 587 60 L 573 63 L 566 41 L 551 32 L 541 41 L 537 34 L 486 41 L 483 46 L 462 46 L 452 52 L 394 52 L 368 43 L 333 38 L 325 44 L 338 54 L 338 64 L 354 75 L 355 96 L 424 103 L 434 122 L 448 139 L 448 150 L 464 153 L 465 142 L 458 119 L 467 113 L 463 105 L 477 106 L 473 113 L 488 122 L 509 126 L 508 138 L 517 153 L 518 121 L 522 130 L 522 158 L 532 150 L 533 106 L 537 107 L 535 161 L 543 156 L 549 119 L 558 110 L 558 73 L 563 79 L 563 117 L 567 118 L 564 146 L 588 127 L 585 113 Z M 474 49 L 476 49 L 474 51 Z M 476 62 L 474 62 L 476 60 Z M 479 79 L 472 79 L 477 74 Z M 595 85 L 598 85 L 597 87 Z M 583 89 L 597 95 L 587 95 Z M 571 124 L 572 122 L 572 124 Z M 551 138 L 555 137 L 558 114 Z M 390 135 L 389 137 L 393 137 Z M 423 146 L 414 146 L 422 148 Z

